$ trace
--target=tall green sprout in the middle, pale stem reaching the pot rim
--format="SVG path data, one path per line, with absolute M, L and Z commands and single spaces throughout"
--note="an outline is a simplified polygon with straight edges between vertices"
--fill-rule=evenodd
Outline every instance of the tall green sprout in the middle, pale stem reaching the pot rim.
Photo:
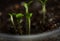
M 31 17 L 32 17 L 32 13 L 29 13 L 29 11 L 28 11 L 28 6 L 29 6 L 29 4 L 28 3 L 24 3 L 23 4 L 23 6 L 25 7 L 25 9 L 26 9 L 26 31 L 28 31 L 27 32 L 27 34 L 30 34 L 30 29 L 31 29 Z

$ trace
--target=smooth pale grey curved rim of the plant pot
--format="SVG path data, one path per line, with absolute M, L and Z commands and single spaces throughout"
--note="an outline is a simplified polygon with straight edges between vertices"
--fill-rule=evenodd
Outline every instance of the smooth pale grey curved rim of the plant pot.
M 16 40 L 20 40 L 20 39 L 43 39 L 43 38 L 47 38 L 47 37 L 52 37 L 52 35 L 58 35 L 60 34 L 60 28 L 55 29 L 53 31 L 49 31 L 49 32 L 44 32 L 44 33 L 40 33 L 40 34 L 36 34 L 36 35 L 10 35 L 10 34 L 5 34 L 5 33 L 0 33 L 0 38 L 2 39 L 16 39 Z

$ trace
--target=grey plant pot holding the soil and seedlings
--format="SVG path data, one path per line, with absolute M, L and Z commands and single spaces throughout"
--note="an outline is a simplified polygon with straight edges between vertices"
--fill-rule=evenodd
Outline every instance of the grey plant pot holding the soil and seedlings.
M 0 41 L 60 41 L 60 28 L 36 35 L 9 35 L 0 33 Z M 52 40 L 51 40 L 52 39 Z

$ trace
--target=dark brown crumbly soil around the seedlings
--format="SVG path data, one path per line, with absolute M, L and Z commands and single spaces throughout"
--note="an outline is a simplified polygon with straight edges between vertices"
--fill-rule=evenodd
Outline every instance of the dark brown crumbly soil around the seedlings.
M 14 28 L 11 28 L 9 22 L 8 13 L 23 13 L 25 14 L 25 9 L 21 6 L 23 1 L 0 1 L 0 32 L 9 34 L 19 34 L 18 30 L 15 32 Z M 28 2 L 28 1 L 25 1 Z M 60 27 L 60 0 L 48 0 L 46 4 L 47 12 L 45 18 L 45 24 L 42 24 L 42 12 L 41 4 L 34 1 L 30 4 L 29 12 L 33 13 L 31 18 L 31 34 L 37 34 L 47 31 L 52 31 Z M 26 27 L 23 22 L 21 23 L 21 29 L 23 34 L 26 34 Z

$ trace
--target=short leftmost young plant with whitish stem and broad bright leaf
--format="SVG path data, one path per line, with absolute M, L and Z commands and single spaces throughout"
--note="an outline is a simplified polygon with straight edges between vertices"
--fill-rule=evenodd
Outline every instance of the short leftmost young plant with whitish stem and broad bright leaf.
M 10 21 L 13 25 L 13 28 L 14 28 L 15 32 L 17 30 L 16 28 L 18 28 L 18 33 L 22 35 L 22 29 L 20 28 L 20 23 L 21 23 L 20 21 L 21 21 L 21 19 L 24 15 L 22 13 L 18 13 L 18 14 L 15 14 L 15 13 L 10 14 L 9 13 L 9 16 L 10 16 Z M 17 24 L 18 24 L 17 27 L 15 26 L 15 22 L 14 22 L 14 18 L 13 18 L 14 16 L 17 20 Z

